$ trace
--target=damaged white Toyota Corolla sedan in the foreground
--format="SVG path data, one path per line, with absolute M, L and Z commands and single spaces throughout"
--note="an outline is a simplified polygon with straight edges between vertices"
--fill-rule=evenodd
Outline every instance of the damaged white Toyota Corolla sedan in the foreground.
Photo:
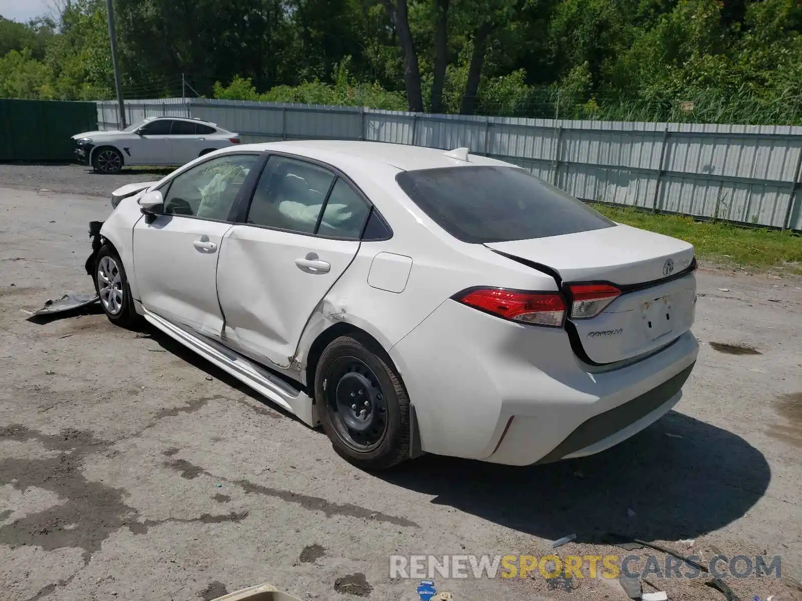
M 242 145 L 112 205 L 87 260 L 108 318 L 369 470 L 606 450 L 679 401 L 699 350 L 691 244 L 464 148 Z

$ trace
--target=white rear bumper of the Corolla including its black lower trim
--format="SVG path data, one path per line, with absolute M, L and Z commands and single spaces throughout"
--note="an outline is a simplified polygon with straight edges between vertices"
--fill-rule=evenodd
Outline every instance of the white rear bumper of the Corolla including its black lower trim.
M 424 451 L 516 466 L 597 453 L 643 430 L 680 400 L 698 353 L 686 332 L 632 365 L 589 368 L 565 330 L 450 301 L 391 349 Z

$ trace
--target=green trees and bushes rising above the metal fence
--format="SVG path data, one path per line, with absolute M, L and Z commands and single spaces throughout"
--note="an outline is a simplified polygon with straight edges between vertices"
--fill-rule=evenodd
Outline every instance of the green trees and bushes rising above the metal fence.
M 124 91 L 403 110 L 400 1 L 115 0 Z M 406 1 L 428 106 L 439 13 Z M 448 112 L 468 95 L 485 115 L 802 124 L 798 0 L 449 0 L 446 14 Z M 0 18 L 0 95 L 113 97 L 105 2 L 67 0 L 58 21 Z

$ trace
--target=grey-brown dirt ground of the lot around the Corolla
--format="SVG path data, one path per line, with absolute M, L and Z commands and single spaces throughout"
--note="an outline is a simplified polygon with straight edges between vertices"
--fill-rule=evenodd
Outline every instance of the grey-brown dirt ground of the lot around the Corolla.
M 87 223 L 110 212 L 97 195 L 161 175 L 0 166 L 0 599 L 189 601 L 269 582 L 415 601 L 419 581 L 391 581 L 390 555 L 645 553 L 600 543 L 607 532 L 703 563 L 781 555 L 780 579 L 725 580 L 742 601 L 802 599 L 799 278 L 700 270 L 683 401 L 612 450 L 523 469 L 427 456 L 372 475 L 155 330 L 97 309 L 26 321 L 20 309 L 91 291 Z M 622 599 L 535 574 L 435 586 L 455 601 Z M 725 599 L 658 576 L 670 599 Z

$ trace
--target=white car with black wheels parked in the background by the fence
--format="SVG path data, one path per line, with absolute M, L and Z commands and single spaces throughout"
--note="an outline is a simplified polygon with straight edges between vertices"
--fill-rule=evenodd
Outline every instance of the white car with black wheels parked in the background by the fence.
M 240 135 L 200 119 L 151 117 L 124 130 L 84 131 L 72 136 L 75 158 L 100 173 L 132 165 L 183 165 L 240 143 Z

